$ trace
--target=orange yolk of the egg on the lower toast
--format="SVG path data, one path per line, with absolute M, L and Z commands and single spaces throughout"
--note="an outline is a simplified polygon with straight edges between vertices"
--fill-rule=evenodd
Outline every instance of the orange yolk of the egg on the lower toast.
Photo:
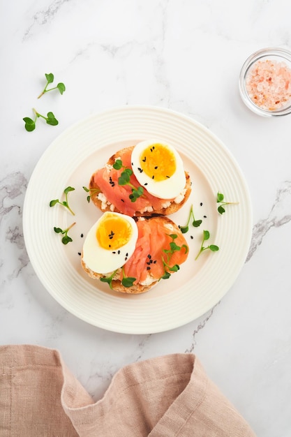
M 96 238 L 103 249 L 115 250 L 128 243 L 133 229 L 124 218 L 107 214 L 96 230 Z

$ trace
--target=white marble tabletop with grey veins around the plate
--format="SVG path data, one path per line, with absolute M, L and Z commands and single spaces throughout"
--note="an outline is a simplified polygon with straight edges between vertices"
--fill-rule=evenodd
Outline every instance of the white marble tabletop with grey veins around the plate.
M 249 54 L 291 48 L 290 16 L 288 0 L 1 3 L 1 344 L 59 349 L 94 399 L 125 364 L 190 351 L 258 436 L 291 435 L 291 115 L 259 117 L 238 91 Z M 38 101 L 51 71 L 66 92 Z M 253 204 L 234 286 L 198 320 L 149 335 L 107 332 L 68 313 L 33 271 L 22 232 L 27 183 L 52 140 L 90 114 L 132 104 L 207 126 L 239 163 Z M 33 107 L 53 110 L 59 125 L 38 120 L 25 131 Z

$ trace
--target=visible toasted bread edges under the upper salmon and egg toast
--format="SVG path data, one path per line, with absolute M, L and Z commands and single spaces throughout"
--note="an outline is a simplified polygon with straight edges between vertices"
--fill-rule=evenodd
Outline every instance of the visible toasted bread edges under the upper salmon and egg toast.
M 115 163 L 115 161 L 121 156 L 121 154 L 124 153 L 124 151 L 132 151 L 133 147 L 126 147 L 124 149 L 117 151 L 117 153 L 112 155 L 111 158 L 107 161 L 107 165 L 113 165 Z M 95 174 L 96 173 L 91 175 L 91 179 L 89 182 L 90 196 L 91 196 L 92 202 L 94 202 L 94 205 L 96 205 L 96 207 L 101 209 L 101 211 L 103 211 L 103 212 L 114 211 L 114 212 L 121 212 L 122 213 L 122 211 L 120 211 L 116 207 L 116 205 L 112 205 L 109 202 L 103 202 L 103 200 L 101 200 L 100 197 L 98 198 L 98 195 L 101 191 L 100 191 L 100 187 L 94 181 Z M 184 205 L 186 200 L 188 200 L 188 197 L 191 193 L 191 179 L 190 179 L 188 172 L 186 172 L 186 171 L 185 171 L 185 176 L 186 176 L 186 184 L 185 184 L 185 188 L 184 188 L 184 196 L 181 196 L 181 200 L 179 199 L 179 202 L 175 202 L 174 200 L 172 200 L 170 202 L 170 205 L 168 205 L 167 207 L 163 207 L 161 209 L 153 209 L 153 211 L 151 211 L 151 212 L 149 212 L 149 211 L 146 211 L 146 212 L 135 211 L 135 214 L 133 214 L 133 216 L 135 216 L 135 217 L 151 217 L 154 215 L 167 216 L 170 214 L 174 214 L 174 212 L 177 212 Z M 166 202 L 167 202 L 167 200 L 165 200 L 165 203 Z

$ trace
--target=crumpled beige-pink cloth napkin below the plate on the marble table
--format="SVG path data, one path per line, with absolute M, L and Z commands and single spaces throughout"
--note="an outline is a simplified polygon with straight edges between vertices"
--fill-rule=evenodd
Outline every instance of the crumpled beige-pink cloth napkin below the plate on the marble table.
M 0 346 L 1 437 L 255 437 L 193 354 L 125 366 L 97 402 L 57 350 Z

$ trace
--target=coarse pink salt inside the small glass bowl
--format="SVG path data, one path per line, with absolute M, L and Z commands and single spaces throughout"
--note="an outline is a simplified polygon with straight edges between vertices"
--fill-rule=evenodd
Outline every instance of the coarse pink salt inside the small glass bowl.
M 246 91 L 260 108 L 281 109 L 291 97 L 291 70 L 285 62 L 257 61 L 246 77 Z

